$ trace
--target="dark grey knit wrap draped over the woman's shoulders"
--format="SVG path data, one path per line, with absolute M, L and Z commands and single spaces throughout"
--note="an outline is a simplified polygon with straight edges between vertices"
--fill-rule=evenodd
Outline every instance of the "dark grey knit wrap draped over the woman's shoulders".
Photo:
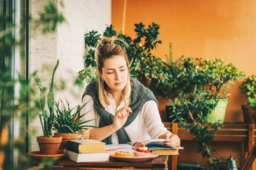
M 132 121 L 134 121 L 134 119 L 139 114 L 145 102 L 151 101 L 151 100 L 155 101 L 158 107 L 158 101 L 154 97 L 153 92 L 151 92 L 148 88 L 143 86 L 143 84 L 141 84 L 140 81 L 138 81 L 135 78 L 131 78 L 131 84 L 132 84 L 133 91 L 131 93 L 131 104 L 129 107 L 131 107 L 132 113 L 130 113 L 130 115 L 128 116 L 124 126 L 116 131 L 119 139 L 119 144 L 125 144 L 126 142 L 131 142 L 124 127 L 127 127 L 129 124 L 131 124 Z M 110 124 L 113 124 L 114 116 L 111 113 L 107 112 L 105 108 L 102 106 L 102 104 L 100 104 L 99 102 L 99 82 L 93 81 L 90 84 L 88 84 L 82 96 L 82 100 L 84 98 L 84 95 L 90 95 L 94 97 L 93 98 L 94 108 L 100 117 L 99 127 L 105 127 Z M 103 139 L 102 141 L 106 142 L 106 144 L 112 144 L 111 135 Z

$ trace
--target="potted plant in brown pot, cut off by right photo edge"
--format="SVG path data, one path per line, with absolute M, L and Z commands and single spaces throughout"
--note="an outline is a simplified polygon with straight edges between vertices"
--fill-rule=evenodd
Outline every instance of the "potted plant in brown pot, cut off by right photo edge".
M 246 92 L 247 99 L 249 98 L 256 98 L 256 76 L 251 75 L 245 79 L 245 82 L 240 88 Z M 252 115 L 255 112 L 248 102 L 246 104 L 242 104 L 243 116 L 244 116 L 244 123 L 246 124 L 254 124 Z

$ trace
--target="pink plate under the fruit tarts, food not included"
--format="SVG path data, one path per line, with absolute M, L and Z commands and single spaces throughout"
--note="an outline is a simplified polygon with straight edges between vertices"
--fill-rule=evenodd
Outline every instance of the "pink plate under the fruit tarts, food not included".
M 128 162 L 141 162 L 141 161 L 148 161 L 149 159 L 155 158 L 158 156 L 157 153 L 150 153 L 149 156 L 130 156 L 130 157 L 125 157 L 125 156 L 115 156 L 115 153 L 110 153 L 110 156 L 112 158 L 116 158 L 122 161 L 128 161 Z

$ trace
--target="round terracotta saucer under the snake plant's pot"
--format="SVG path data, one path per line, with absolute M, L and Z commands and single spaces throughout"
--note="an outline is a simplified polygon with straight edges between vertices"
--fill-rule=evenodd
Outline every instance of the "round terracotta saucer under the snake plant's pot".
M 33 152 L 28 152 L 27 155 L 34 160 L 42 160 L 42 159 L 57 160 L 62 158 L 62 156 L 66 155 L 66 153 L 64 153 L 63 150 L 59 150 L 58 154 L 55 154 L 55 155 L 41 155 L 40 151 L 33 151 Z

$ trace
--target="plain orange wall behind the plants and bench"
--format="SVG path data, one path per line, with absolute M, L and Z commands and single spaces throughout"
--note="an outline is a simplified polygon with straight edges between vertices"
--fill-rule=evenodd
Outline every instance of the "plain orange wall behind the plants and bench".
M 112 24 L 117 31 L 122 29 L 123 2 L 112 0 Z M 160 25 L 159 39 L 163 41 L 163 45 L 152 52 L 155 56 L 165 59 L 172 42 L 175 59 L 181 55 L 223 58 L 244 70 L 248 76 L 256 74 L 255 7 L 255 0 L 127 0 L 125 34 L 135 37 L 134 23 L 143 22 L 147 26 L 155 22 Z M 247 99 L 239 89 L 242 81 L 236 82 L 236 86 L 230 85 L 231 97 L 225 121 L 243 121 L 241 104 Z M 162 118 L 165 117 L 165 105 L 166 101 L 160 100 Z M 182 144 L 186 149 L 190 148 L 190 143 Z M 237 144 L 218 144 L 226 148 L 215 146 L 219 150 L 218 156 L 224 156 L 225 151 L 228 151 L 225 156 L 230 153 L 242 156 L 241 147 L 236 147 Z M 196 150 L 196 144 L 191 146 Z M 178 159 L 191 160 L 194 152 L 189 155 L 189 150 L 184 150 Z M 198 154 L 198 162 L 205 165 L 206 161 L 200 157 Z

